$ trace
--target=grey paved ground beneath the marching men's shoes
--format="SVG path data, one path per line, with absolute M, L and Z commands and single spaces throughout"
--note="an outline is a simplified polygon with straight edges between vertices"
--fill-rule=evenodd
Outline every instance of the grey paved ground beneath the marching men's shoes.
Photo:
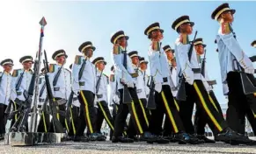
M 231 146 L 228 144 L 201 144 L 201 145 L 179 145 L 179 144 L 146 144 L 144 142 L 134 144 L 112 144 L 106 142 L 74 143 L 64 142 L 62 144 L 44 144 L 37 146 L 11 147 L 0 142 L 0 153 L 93 153 L 93 154 L 140 154 L 140 153 L 256 153 L 256 146 Z

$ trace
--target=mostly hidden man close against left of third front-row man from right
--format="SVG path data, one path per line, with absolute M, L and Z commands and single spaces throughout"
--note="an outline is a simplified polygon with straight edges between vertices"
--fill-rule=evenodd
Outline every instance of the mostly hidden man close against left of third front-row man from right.
M 149 94 L 150 94 L 150 88 L 148 87 L 148 81 L 149 81 L 149 75 L 146 73 L 147 69 L 148 69 L 148 61 L 145 60 L 145 58 L 140 57 L 140 70 L 143 73 L 143 83 L 144 83 L 144 91 L 146 94 L 146 98 L 148 100 Z M 144 106 L 146 109 L 146 106 Z M 147 109 L 146 109 L 147 110 Z M 149 119 L 150 116 L 148 116 Z

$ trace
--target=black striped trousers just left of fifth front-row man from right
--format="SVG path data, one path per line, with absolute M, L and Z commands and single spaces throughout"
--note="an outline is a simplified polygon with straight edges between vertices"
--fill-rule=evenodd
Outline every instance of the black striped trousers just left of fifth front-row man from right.
M 79 116 L 79 107 L 72 106 L 71 109 L 71 121 L 69 123 L 69 136 L 75 136 L 77 134 L 77 126 L 78 126 L 78 116 Z

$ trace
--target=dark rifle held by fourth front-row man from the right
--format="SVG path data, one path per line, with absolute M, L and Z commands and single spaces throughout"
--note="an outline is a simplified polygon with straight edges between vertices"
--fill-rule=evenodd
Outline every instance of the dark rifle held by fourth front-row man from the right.
M 126 45 L 127 47 L 127 45 Z M 127 48 L 125 47 L 125 51 L 123 52 L 123 66 L 125 69 L 127 69 Z M 123 84 L 123 97 L 122 97 L 122 103 L 129 104 L 132 102 L 132 97 L 130 95 L 128 86 L 126 84 Z

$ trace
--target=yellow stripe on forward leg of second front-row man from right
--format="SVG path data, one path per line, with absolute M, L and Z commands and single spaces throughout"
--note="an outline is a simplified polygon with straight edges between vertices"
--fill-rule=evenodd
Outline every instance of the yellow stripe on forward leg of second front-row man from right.
M 205 103 L 204 99 L 203 99 L 203 96 L 201 95 L 201 91 L 200 89 L 198 88 L 197 84 L 194 82 L 194 88 L 195 88 L 195 91 L 197 93 L 197 95 L 199 95 L 199 98 L 201 100 L 201 104 L 202 104 L 202 107 L 205 109 L 206 113 L 208 114 L 209 118 L 211 119 L 211 121 L 215 124 L 217 130 L 219 131 L 222 131 L 223 128 L 220 126 L 219 123 L 217 123 L 216 121 L 216 118 L 212 115 L 212 113 L 210 112 L 210 110 L 208 109 L 208 106 L 207 104 Z

